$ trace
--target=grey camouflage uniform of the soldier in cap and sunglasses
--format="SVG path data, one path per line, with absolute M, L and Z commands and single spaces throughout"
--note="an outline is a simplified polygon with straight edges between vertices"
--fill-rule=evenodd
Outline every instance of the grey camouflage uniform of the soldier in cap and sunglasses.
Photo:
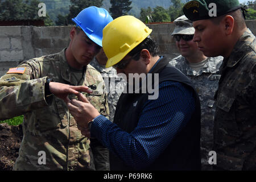
M 188 61 L 183 56 L 177 56 L 170 61 L 170 64 L 184 73 L 195 85 L 201 102 L 201 169 L 207 170 L 209 166 L 209 151 L 213 147 L 213 120 L 215 107 L 214 94 L 218 88 L 220 73 L 218 68 L 222 63 L 223 57 L 209 57 L 200 71 L 196 72 L 189 67 Z

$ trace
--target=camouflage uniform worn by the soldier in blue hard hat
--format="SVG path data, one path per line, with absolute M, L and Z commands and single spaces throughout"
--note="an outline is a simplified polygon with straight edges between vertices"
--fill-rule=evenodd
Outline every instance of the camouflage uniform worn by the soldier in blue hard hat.
M 94 142 L 77 129 L 67 105 L 57 97 L 44 97 L 47 77 L 64 84 L 94 85 L 92 94 L 84 94 L 101 114 L 109 115 L 106 89 L 100 73 L 90 65 L 82 72 L 72 69 L 65 59 L 64 50 L 24 61 L 18 66 L 26 68 L 23 74 L 6 74 L 0 79 L 0 119 L 24 114 L 23 140 L 14 170 L 97 168 L 94 158 L 98 156 L 92 154 L 91 148 Z M 104 151 L 104 148 L 102 146 L 98 150 Z M 46 152 L 46 164 L 38 164 L 39 151 Z

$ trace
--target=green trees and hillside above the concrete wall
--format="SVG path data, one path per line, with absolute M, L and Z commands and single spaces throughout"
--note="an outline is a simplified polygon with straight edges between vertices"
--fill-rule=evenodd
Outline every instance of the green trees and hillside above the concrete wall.
M 38 3 L 46 3 L 46 26 L 73 24 L 82 9 L 104 7 L 113 18 L 134 15 L 145 23 L 171 22 L 183 15 L 187 0 L 0 0 L 0 20 L 38 19 Z M 247 1 L 246 19 L 256 19 L 256 1 Z

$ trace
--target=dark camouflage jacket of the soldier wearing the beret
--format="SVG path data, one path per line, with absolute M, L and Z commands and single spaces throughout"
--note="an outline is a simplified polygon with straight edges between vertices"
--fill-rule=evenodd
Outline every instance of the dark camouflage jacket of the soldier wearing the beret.
M 247 29 L 224 59 L 216 94 L 217 168 L 256 170 L 256 39 Z

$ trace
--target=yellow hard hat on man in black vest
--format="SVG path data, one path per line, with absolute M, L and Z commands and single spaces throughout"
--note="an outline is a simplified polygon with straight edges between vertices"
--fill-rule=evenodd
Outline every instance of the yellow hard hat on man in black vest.
M 147 38 L 152 30 L 134 16 L 119 16 L 103 30 L 102 48 L 108 61 L 106 68 L 123 59 L 133 48 Z

